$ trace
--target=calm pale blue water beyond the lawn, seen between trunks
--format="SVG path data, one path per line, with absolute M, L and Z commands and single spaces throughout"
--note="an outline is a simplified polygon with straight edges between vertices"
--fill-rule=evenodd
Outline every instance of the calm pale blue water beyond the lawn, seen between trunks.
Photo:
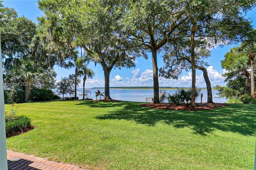
M 97 90 L 100 90 L 100 92 L 104 92 L 104 89 L 89 89 L 91 90 L 91 94 L 88 94 L 88 98 L 91 98 L 93 100 L 96 100 L 95 92 Z M 80 93 L 82 93 L 82 89 L 78 89 Z M 170 92 L 173 94 L 176 90 L 166 90 L 166 92 Z M 207 102 L 207 90 L 201 90 L 201 93 L 203 94 L 202 101 Z M 218 95 L 217 90 L 212 90 L 212 100 L 215 103 L 224 103 L 227 100 L 225 98 L 216 98 Z M 65 95 L 66 96 L 66 95 Z M 69 95 L 67 95 L 69 96 Z M 83 97 L 77 94 L 79 99 L 82 99 Z M 110 89 L 110 97 L 114 100 L 124 100 L 124 101 L 131 101 L 131 102 L 146 102 L 146 98 L 153 97 L 153 89 Z M 98 99 L 100 99 L 98 97 Z M 200 97 L 196 102 L 200 102 Z

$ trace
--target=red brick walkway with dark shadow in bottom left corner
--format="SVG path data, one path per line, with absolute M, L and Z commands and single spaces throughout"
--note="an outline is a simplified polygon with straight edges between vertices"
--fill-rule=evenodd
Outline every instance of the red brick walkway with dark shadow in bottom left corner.
M 33 155 L 7 150 L 8 170 L 84 170 L 78 166 L 57 163 Z

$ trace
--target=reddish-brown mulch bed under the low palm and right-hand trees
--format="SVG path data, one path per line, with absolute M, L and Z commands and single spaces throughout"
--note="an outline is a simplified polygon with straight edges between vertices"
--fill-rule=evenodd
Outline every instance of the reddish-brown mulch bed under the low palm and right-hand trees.
M 212 110 L 217 107 L 226 107 L 230 106 L 229 104 L 223 104 L 223 103 L 203 103 L 202 106 L 200 103 L 196 103 L 196 107 L 192 107 L 190 104 L 181 104 L 179 106 L 175 106 L 172 104 L 152 104 L 152 103 L 146 103 L 146 104 L 141 104 L 140 106 L 143 107 L 150 107 L 150 108 L 155 108 L 155 109 L 170 109 L 170 110 L 187 110 L 187 111 L 199 111 L 199 110 Z

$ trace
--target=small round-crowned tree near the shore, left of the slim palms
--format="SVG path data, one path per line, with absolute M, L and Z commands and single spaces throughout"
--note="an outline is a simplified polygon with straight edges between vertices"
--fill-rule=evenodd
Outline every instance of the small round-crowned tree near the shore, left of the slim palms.
M 80 79 L 77 80 L 77 85 L 80 82 Z M 62 100 L 64 98 L 64 94 L 73 93 L 75 86 L 75 75 L 70 74 L 68 77 L 61 78 L 59 82 L 56 84 L 58 90 L 60 90 L 60 94 L 62 94 Z

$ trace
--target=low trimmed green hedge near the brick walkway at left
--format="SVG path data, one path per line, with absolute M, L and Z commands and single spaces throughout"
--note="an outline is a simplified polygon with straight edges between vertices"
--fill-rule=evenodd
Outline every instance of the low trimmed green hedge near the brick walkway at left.
M 24 131 L 24 129 L 29 128 L 31 125 L 31 119 L 24 116 L 19 115 L 15 119 L 11 121 L 7 121 L 5 124 L 6 127 L 6 136 L 12 136 L 13 134 Z

